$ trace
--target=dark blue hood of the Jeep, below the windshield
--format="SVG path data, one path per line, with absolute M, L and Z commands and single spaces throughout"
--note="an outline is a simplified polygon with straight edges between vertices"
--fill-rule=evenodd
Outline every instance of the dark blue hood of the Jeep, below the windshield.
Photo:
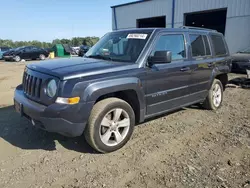
M 56 76 L 61 80 L 124 71 L 137 67 L 134 63 L 121 63 L 92 58 L 47 60 L 27 65 L 29 69 Z

